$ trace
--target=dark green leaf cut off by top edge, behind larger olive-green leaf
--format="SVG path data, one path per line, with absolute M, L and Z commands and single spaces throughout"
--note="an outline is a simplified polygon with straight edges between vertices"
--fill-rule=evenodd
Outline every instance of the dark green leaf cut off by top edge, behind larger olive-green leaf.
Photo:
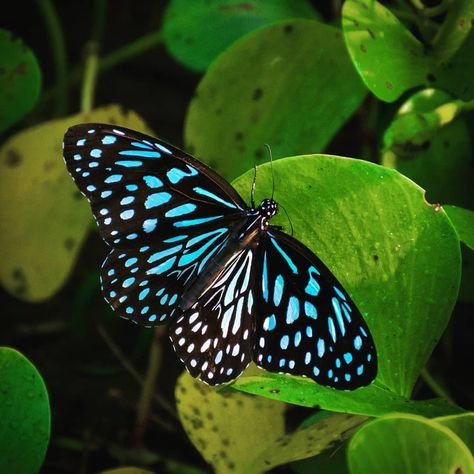
M 163 19 L 168 51 L 185 66 L 204 71 L 250 31 L 289 18 L 315 18 L 307 0 L 171 0 Z

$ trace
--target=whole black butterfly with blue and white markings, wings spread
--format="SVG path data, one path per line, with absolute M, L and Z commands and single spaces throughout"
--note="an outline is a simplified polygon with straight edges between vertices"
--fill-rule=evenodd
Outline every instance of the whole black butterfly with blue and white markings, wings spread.
M 111 247 L 105 300 L 141 325 L 168 323 L 192 376 L 223 384 L 253 361 L 343 390 L 375 378 L 361 313 L 311 250 L 269 224 L 273 198 L 249 207 L 195 158 L 115 125 L 73 126 L 63 148 Z

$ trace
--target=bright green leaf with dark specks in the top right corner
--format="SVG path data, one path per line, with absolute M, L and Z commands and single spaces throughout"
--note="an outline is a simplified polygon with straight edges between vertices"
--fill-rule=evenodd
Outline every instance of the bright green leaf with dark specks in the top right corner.
M 470 1 L 470 0 L 467 0 Z M 472 2 L 451 3 L 448 26 L 434 48 L 421 43 L 398 18 L 373 0 L 347 0 L 343 29 L 349 53 L 367 87 L 381 100 L 393 102 L 405 91 L 436 85 L 459 98 L 474 98 Z M 445 34 L 461 23 L 459 34 Z M 458 27 L 456 25 L 456 27 Z

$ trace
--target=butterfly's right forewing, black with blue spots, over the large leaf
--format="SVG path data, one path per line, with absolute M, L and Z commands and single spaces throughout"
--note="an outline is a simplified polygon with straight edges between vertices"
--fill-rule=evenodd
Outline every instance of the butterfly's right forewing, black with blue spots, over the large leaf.
M 270 227 L 259 243 L 253 360 L 337 389 L 368 385 L 377 354 L 362 315 L 307 247 Z

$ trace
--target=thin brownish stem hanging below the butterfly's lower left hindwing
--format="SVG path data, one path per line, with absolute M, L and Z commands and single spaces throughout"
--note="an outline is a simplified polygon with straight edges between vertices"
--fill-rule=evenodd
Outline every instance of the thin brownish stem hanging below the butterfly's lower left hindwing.
M 165 333 L 163 326 L 155 328 L 154 337 L 151 342 L 150 354 L 148 357 L 148 369 L 143 384 L 142 393 L 137 406 L 137 418 L 135 421 L 134 445 L 137 448 L 143 447 L 146 425 L 150 418 L 151 403 L 155 392 L 156 377 L 161 367 L 162 344 L 161 339 Z

